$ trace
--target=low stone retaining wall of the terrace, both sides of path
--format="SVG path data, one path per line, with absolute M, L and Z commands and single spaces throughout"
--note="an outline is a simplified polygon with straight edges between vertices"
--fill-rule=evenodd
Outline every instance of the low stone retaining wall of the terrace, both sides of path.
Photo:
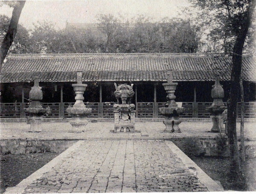
M 227 138 L 171 138 L 168 139 L 177 145 L 181 151 L 193 156 L 229 156 Z M 100 140 L 99 140 L 100 141 Z M 3 154 L 22 153 L 61 153 L 77 140 L 24 140 L 24 139 L 1 139 L 0 152 Z M 240 145 L 240 141 L 239 141 Z M 247 156 L 255 156 L 256 140 L 245 139 Z

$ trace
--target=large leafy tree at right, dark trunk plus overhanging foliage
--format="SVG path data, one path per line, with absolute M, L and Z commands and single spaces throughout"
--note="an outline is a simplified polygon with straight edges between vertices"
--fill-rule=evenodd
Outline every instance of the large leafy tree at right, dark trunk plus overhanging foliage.
M 236 104 L 239 98 L 239 81 L 241 76 L 242 52 L 248 36 L 256 0 L 191 0 L 204 10 L 210 18 L 206 23 L 212 33 L 218 33 L 223 41 L 224 52 L 232 51 L 232 71 L 230 79 L 230 96 L 227 101 L 228 139 L 230 146 L 230 170 L 234 178 L 240 172 L 240 159 L 236 136 Z M 216 37 L 213 37 L 217 40 Z

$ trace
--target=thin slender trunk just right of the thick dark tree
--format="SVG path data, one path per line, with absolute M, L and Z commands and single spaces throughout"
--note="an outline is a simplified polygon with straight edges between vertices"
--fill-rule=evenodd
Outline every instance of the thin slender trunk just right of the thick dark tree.
M 241 78 L 240 78 L 240 89 L 241 89 L 241 126 L 240 126 L 240 152 L 241 160 L 245 161 L 245 148 L 244 148 L 244 86 L 243 86 L 243 69 L 241 69 Z

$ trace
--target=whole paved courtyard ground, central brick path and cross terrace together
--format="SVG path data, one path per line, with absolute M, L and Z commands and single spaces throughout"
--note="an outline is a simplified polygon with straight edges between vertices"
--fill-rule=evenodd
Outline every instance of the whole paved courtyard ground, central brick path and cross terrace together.
M 211 122 L 182 122 L 182 133 L 163 133 L 165 126 L 162 122 L 137 122 L 135 133 L 110 133 L 113 123 L 98 122 L 89 123 L 84 133 L 70 133 L 69 123 L 52 122 L 42 123 L 42 132 L 30 133 L 26 123 L 1 123 L 1 139 L 82 140 L 13 188 L 16 190 L 7 191 L 218 191 L 221 187 L 216 182 L 171 141 L 165 140 L 171 137 L 215 137 L 218 134 L 209 133 L 211 126 Z M 255 132 L 255 123 L 245 123 L 247 139 L 253 140 Z M 196 175 L 193 174 L 195 169 Z M 159 177 L 166 174 L 171 177 Z M 206 180 L 215 186 L 207 185 Z

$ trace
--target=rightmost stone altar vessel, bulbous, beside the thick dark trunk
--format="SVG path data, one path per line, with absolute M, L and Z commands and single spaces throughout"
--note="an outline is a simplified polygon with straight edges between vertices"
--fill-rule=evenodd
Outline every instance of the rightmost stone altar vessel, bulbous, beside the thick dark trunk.
M 222 85 L 220 84 L 220 78 L 218 74 L 215 75 L 215 85 L 212 86 L 211 96 L 213 98 L 212 106 L 207 107 L 207 110 L 212 115 L 211 118 L 213 125 L 210 132 L 224 132 L 225 129 L 223 127 L 223 119 L 221 118 L 221 113 L 223 113 L 223 111 L 227 109 L 227 107 L 224 106 L 224 103 L 222 101 L 222 98 L 224 98 L 224 90 L 222 88 Z

